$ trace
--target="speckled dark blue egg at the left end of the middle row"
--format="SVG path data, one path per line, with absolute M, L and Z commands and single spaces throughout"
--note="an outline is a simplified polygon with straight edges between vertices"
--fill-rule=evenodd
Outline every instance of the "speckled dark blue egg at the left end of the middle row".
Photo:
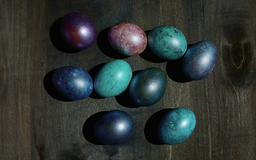
M 60 67 L 54 71 L 52 82 L 56 90 L 70 100 L 84 99 L 93 90 L 92 77 L 76 66 Z

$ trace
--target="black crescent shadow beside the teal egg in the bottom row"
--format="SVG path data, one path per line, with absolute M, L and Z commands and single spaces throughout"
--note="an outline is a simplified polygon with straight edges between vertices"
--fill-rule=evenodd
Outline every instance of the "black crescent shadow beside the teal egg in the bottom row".
M 162 109 L 149 117 L 144 128 L 144 134 L 147 141 L 154 145 L 164 145 L 164 143 L 159 141 L 157 132 L 162 117 L 164 117 L 164 115 L 166 115 L 166 113 L 168 113 L 170 110 L 172 109 Z

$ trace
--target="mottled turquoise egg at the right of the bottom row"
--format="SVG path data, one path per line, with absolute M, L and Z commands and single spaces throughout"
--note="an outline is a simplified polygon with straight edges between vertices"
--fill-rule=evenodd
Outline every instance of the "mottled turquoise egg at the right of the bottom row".
M 178 107 L 162 117 L 158 127 L 158 137 L 162 143 L 176 145 L 188 139 L 195 127 L 194 112 L 186 107 Z

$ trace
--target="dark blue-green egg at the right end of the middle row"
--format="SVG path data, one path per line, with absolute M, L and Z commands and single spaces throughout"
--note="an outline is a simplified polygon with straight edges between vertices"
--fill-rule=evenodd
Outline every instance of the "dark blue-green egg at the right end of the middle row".
M 166 92 L 166 73 L 159 68 L 139 71 L 131 80 L 129 95 L 139 106 L 149 106 L 162 99 Z

